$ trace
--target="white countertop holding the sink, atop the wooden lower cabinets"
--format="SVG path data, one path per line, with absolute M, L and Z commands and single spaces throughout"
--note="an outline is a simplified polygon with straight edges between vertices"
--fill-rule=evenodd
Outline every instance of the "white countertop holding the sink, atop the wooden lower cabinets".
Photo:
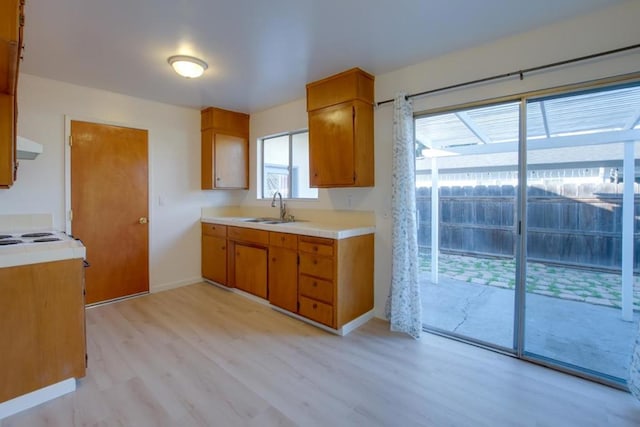
M 374 226 L 343 226 L 338 224 L 323 224 L 311 221 L 294 221 L 281 224 L 264 224 L 259 222 L 246 222 L 246 217 L 202 217 L 202 222 L 231 225 L 235 227 L 253 228 L 256 230 L 278 231 L 281 233 L 302 234 L 305 236 L 325 237 L 328 239 L 346 239 L 348 237 L 373 234 Z

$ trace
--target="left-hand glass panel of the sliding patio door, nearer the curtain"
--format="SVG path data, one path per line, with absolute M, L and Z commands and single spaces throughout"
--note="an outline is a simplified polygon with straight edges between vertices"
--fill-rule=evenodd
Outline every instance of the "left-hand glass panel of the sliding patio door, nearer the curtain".
M 514 350 L 519 102 L 416 119 L 424 323 Z

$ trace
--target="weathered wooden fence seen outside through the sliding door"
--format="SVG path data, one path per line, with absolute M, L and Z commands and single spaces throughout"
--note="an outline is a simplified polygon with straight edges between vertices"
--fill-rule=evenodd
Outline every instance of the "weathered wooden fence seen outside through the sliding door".
M 636 184 L 636 189 L 637 189 Z M 440 249 L 513 257 L 517 187 L 440 187 Z M 527 188 L 530 260 L 619 270 L 622 185 L 554 184 Z M 640 271 L 640 197 L 635 198 L 634 271 Z M 431 246 L 431 189 L 417 190 L 418 244 Z

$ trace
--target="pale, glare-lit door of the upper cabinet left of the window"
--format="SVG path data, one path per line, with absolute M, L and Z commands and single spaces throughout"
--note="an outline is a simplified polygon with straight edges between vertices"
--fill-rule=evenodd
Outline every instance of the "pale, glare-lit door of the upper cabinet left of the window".
M 214 187 L 249 188 L 249 141 L 220 133 L 214 140 Z

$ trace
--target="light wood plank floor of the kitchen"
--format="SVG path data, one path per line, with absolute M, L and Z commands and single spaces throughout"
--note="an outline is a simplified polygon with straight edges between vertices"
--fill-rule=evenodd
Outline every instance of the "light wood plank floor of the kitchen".
M 487 350 L 346 337 L 207 284 L 87 311 L 75 393 L 9 426 L 638 426 L 631 395 Z

